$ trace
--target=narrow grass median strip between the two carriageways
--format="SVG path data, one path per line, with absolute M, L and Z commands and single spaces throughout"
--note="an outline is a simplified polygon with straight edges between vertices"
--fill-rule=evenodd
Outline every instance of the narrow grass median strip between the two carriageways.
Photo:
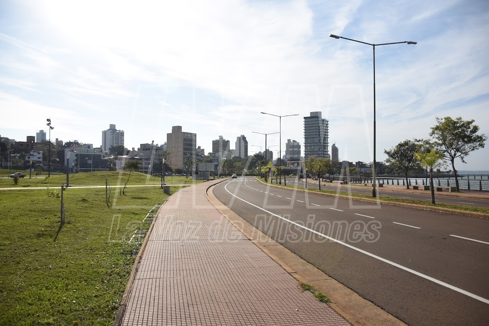
M 290 188 L 290 189 L 305 190 L 304 187 L 284 186 L 284 185 L 276 185 L 276 184 L 274 184 L 274 186 L 285 187 L 285 188 Z M 370 195 L 355 194 L 355 193 L 349 194 L 348 192 L 337 192 L 334 190 L 323 190 L 323 189 L 319 190 L 319 189 L 308 188 L 307 191 L 316 192 L 316 193 L 323 193 L 323 194 L 330 194 L 330 195 L 335 195 L 335 196 L 341 195 L 341 196 L 351 196 L 352 198 L 369 198 L 369 199 L 372 199 L 372 196 L 370 196 Z M 457 209 L 457 210 L 465 210 L 465 211 L 469 211 L 469 212 L 478 212 L 478 213 L 489 214 L 489 208 L 487 208 L 487 207 L 454 205 L 454 204 L 446 204 L 446 203 L 432 204 L 431 201 L 427 201 L 427 200 L 416 200 L 416 199 L 398 198 L 398 197 L 391 197 L 391 196 L 388 196 L 388 197 L 387 196 L 378 196 L 377 198 L 379 200 L 382 200 L 382 201 L 410 203 L 410 204 L 417 204 L 417 205 L 431 206 L 431 207 L 443 207 L 443 208 L 449 208 L 449 209 Z

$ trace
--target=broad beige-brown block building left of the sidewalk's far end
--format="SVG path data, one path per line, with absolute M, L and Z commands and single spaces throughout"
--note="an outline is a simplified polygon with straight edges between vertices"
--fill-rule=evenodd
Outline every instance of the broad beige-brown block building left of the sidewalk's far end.
M 192 159 L 195 165 L 197 150 L 197 133 L 184 132 L 182 126 L 173 126 L 166 134 L 166 150 L 169 155 L 168 165 L 172 169 L 183 169 L 184 160 Z

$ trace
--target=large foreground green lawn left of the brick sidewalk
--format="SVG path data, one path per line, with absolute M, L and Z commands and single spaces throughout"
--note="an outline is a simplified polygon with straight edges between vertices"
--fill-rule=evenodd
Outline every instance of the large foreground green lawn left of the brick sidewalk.
M 129 188 L 108 208 L 104 188 L 68 189 L 60 228 L 48 192 L 1 192 L 0 325 L 112 325 L 140 249 L 128 241 L 167 196 Z

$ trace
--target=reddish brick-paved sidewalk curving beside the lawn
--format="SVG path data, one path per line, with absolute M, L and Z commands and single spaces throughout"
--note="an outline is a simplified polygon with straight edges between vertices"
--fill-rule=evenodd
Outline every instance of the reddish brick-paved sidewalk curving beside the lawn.
M 122 325 L 350 325 L 210 204 L 216 182 L 160 208 Z

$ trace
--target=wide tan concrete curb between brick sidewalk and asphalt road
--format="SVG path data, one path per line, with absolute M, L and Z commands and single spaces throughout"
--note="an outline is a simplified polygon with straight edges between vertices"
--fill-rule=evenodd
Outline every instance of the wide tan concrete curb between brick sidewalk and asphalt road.
M 227 179 L 226 179 L 227 180 Z M 223 181 L 226 181 L 223 180 Z M 219 182 L 220 183 L 220 182 Z M 308 283 L 325 293 L 332 302 L 328 305 L 353 326 L 407 326 L 404 322 L 389 314 L 374 303 L 360 297 L 347 286 L 322 272 L 314 265 L 292 253 L 280 243 L 276 242 L 230 208 L 221 203 L 212 194 L 208 195 L 210 188 L 206 189 L 209 202 L 246 238 L 252 241 L 260 250 L 277 262 L 287 273 L 295 279 Z

